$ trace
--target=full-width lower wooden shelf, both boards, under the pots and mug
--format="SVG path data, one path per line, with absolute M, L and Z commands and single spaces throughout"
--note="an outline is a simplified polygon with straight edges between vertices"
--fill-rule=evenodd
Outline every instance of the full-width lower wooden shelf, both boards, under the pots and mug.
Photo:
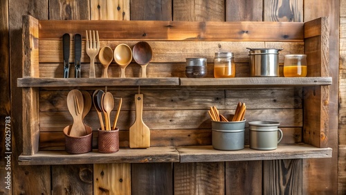
M 66 151 L 39 151 L 33 156 L 19 156 L 19 165 L 72 165 L 96 163 L 194 163 L 244 160 L 277 160 L 296 158 L 331 158 L 331 148 L 311 145 L 280 145 L 275 150 L 259 151 L 245 147 L 239 151 L 220 151 L 211 145 L 187 147 L 120 148 L 113 154 L 93 150 L 86 154 Z

